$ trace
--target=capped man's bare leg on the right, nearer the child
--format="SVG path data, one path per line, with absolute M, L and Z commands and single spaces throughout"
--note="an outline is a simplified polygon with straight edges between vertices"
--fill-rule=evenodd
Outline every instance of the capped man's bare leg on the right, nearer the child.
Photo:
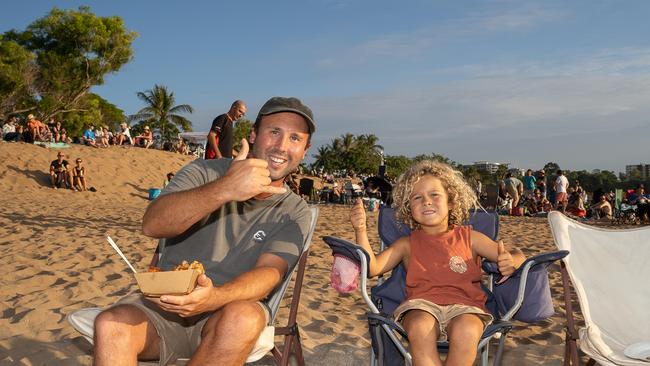
M 201 344 L 188 366 L 243 365 L 266 326 L 266 315 L 253 301 L 236 301 L 208 319 Z

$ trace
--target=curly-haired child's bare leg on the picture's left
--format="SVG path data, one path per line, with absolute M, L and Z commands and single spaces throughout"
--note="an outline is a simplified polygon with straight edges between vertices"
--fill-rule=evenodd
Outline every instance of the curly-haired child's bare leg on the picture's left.
M 402 320 L 409 336 L 413 366 L 442 366 L 436 342 L 440 331 L 433 315 L 422 310 L 408 311 Z

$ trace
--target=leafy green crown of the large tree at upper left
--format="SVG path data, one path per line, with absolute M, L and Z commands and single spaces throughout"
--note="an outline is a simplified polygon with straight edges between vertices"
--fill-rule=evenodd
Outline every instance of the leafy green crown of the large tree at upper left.
M 36 114 L 47 120 L 81 109 L 83 97 L 92 86 L 103 84 L 106 74 L 118 71 L 131 60 L 135 37 L 136 33 L 126 30 L 120 17 L 98 17 L 85 6 L 78 10 L 54 8 L 24 32 L 12 30 L 4 34 L 3 46 L 12 42 L 30 56 L 8 62 L 9 71 L 0 71 L 0 78 L 23 80 L 13 92 L 20 95 L 23 104 L 31 100 L 31 108 L 35 107 Z M 21 112 L 20 108 L 20 103 L 3 104 L 0 115 Z

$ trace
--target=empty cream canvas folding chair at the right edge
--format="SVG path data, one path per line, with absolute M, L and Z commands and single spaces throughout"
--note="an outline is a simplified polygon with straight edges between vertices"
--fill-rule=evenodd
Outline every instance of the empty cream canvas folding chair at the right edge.
M 549 213 L 548 221 L 557 247 L 571 251 L 562 260 L 568 325 L 564 364 L 578 365 L 578 345 L 591 358 L 588 364 L 650 364 L 625 355 L 640 342 L 646 342 L 650 355 L 650 227 L 603 229 L 559 212 Z M 569 279 L 585 319 L 578 332 Z

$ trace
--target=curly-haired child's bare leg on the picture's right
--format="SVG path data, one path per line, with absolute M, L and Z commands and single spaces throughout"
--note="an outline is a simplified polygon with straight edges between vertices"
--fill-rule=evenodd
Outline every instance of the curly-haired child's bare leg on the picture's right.
M 474 364 L 478 342 L 483 334 L 483 322 L 475 314 L 462 314 L 453 318 L 447 326 L 449 354 L 446 366 Z

